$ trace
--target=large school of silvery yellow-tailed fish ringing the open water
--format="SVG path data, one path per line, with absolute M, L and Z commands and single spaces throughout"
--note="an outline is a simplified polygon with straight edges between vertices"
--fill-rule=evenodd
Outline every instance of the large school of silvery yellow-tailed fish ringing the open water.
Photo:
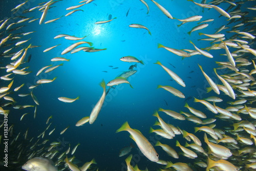
M 24 115 L 20 118 L 20 121 L 26 120 L 26 116 L 29 115 L 26 112 L 26 108 L 33 108 L 34 118 L 36 118 L 36 113 L 38 107 L 41 106 L 40 98 L 36 97 L 33 93 L 33 88 L 42 84 L 48 85 L 52 82 L 58 80 L 58 75 L 55 75 L 51 79 L 40 79 L 36 81 L 35 85 L 30 85 L 27 88 L 27 93 L 19 93 L 20 89 L 25 89 L 27 82 L 24 82 L 21 85 L 16 85 L 16 78 L 24 77 L 26 78 L 27 74 L 40 75 L 42 72 L 54 73 L 54 70 L 57 70 L 58 67 L 65 67 L 66 62 L 70 62 L 70 59 L 66 59 L 61 55 L 67 53 L 76 53 L 79 51 L 83 52 L 99 52 L 108 50 L 106 48 L 97 49 L 93 47 L 93 43 L 84 41 L 87 39 L 87 35 L 83 37 L 77 37 L 74 35 L 68 34 L 59 34 L 52 39 L 63 39 L 70 42 L 69 46 L 63 46 L 61 44 L 48 47 L 43 52 L 38 53 L 47 53 L 54 48 L 61 49 L 61 55 L 51 59 L 52 62 L 61 61 L 63 63 L 53 66 L 50 64 L 47 66 L 42 66 L 39 70 L 30 70 L 30 59 L 29 55 L 32 49 L 36 49 L 38 46 L 31 43 L 33 37 L 30 35 L 36 34 L 32 30 L 30 32 L 21 32 L 21 28 L 28 27 L 30 23 L 37 22 L 38 25 L 45 25 L 53 23 L 57 20 L 61 20 L 63 17 L 69 17 L 69 15 L 79 16 L 81 13 L 86 13 L 86 10 L 83 9 L 84 6 L 87 6 L 90 3 L 95 3 L 94 8 L 97 6 L 97 2 L 100 0 L 85 0 L 75 3 L 74 6 L 67 8 L 67 14 L 62 15 L 57 18 L 47 17 L 49 12 L 54 12 L 54 6 L 58 5 L 58 2 L 65 0 L 51 0 L 49 2 L 39 3 L 37 6 L 25 9 L 22 11 L 22 14 L 25 16 L 15 16 L 6 18 L 5 20 L 0 21 L 0 58 L 2 59 L 1 63 L 1 88 L 0 88 L 0 98 L 1 98 L 1 107 L 0 114 L 4 115 L 15 115 L 15 110 L 23 110 Z M 185 1 L 185 0 L 182 0 Z M 175 56 L 181 56 L 181 60 L 185 61 L 186 58 L 193 58 L 194 55 L 200 55 L 200 58 L 211 58 L 214 59 L 214 55 L 211 54 L 212 51 L 218 51 L 223 49 L 225 52 L 223 55 L 224 61 L 226 62 L 216 62 L 218 68 L 214 68 L 212 71 L 216 74 L 219 83 L 216 84 L 212 80 L 207 72 L 204 71 L 204 68 L 207 67 L 206 63 L 198 64 L 197 67 L 202 71 L 200 77 L 204 78 L 208 83 L 207 92 L 211 90 L 216 93 L 216 96 L 204 97 L 204 99 L 194 98 L 194 102 L 185 101 L 184 108 L 180 112 L 173 111 L 170 108 L 161 108 L 159 107 L 155 111 L 152 111 L 152 116 L 156 119 L 156 123 L 152 127 L 148 128 L 151 133 L 157 134 L 162 138 L 169 139 L 169 141 L 175 142 L 176 146 L 170 146 L 169 144 L 163 144 L 160 141 L 157 141 L 156 144 L 152 144 L 139 130 L 132 128 L 133 125 L 130 125 L 128 122 L 123 121 L 123 125 L 116 130 L 116 132 L 127 131 L 130 134 L 130 137 L 134 141 L 130 146 L 124 147 L 120 150 L 119 156 L 126 156 L 131 153 L 132 148 L 138 148 L 141 153 L 148 159 L 147 162 L 156 162 L 158 164 L 158 170 L 178 170 L 178 171 L 190 171 L 190 170 L 255 170 L 256 169 L 256 50 L 255 47 L 255 35 L 256 35 L 256 17 L 250 17 L 248 14 L 252 14 L 256 10 L 256 5 L 252 7 L 244 8 L 247 2 L 256 2 L 255 0 L 214 0 L 207 1 L 203 0 L 201 3 L 197 3 L 193 0 L 187 0 L 193 5 L 197 5 L 204 12 L 210 13 L 212 10 L 216 10 L 220 17 L 225 17 L 226 25 L 223 25 L 215 33 L 208 32 L 207 28 L 208 23 L 214 21 L 214 19 L 208 19 L 204 16 L 195 15 L 187 18 L 176 18 L 172 15 L 172 11 L 167 10 L 168 7 L 161 5 L 161 1 L 153 0 L 140 0 L 138 3 L 142 3 L 147 11 L 146 14 L 155 15 L 151 13 L 150 7 L 157 6 L 161 11 L 160 15 L 166 15 L 170 22 L 179 21 L 180 24 L 177 27 L 186 25 L 189 27 L 190 22 L 199 22 L 197 26 L 191 28 L 187 33 L 187 36 L 191 34 L 199 34 L 204 36 L 204 38 L 198 40 L 198 42 L 209 41 L 211 42 L 210 47 L 201 47 L 198 42 L 189 41 L 188 43 L 192 44 L 194 49 L 175 49 L 168 47 L 168 45 L 162 45 L 161 42 L 156 46 L 157 48 L 165 49 L 174 54 Z M 175 2 L 175 1 L 174 1 Z M 30 1 L 25 1 L 22 4 L 14 7 L 11 12 L 15 14 L 24 9 L 23 7 Z M 125 3 L 125 1 L 123 2 Z M 223 3 L 228 3 L 229 7 L 227 9 L 222 9 L 221 6 Z M 241 7 L 243 5 L 243 8 Z M 92 6 L 93 7 L 93 6 Z M 79 9 L 78 9 L 79 8 Z M 132 9 L 132 7 L 130 8 Z M 126 16 L 129 15 L 127 11 Z M 246 9 L 246 10 L 245 10 Z M 79 12 L 78 12 L 79 11 Z M 249 12 L 247 12 L 249 11 Z M 26 17 L 27 13 L 35 13 L 34 17 Z M 40 14 L 40 16 L 38 15 Z M 254 13 L 255 14 L 255 13 Z M 247 16 L 248 15 L 248 16 Z M 97 16 L 95 16 L 97 17 Z M 115 20 L 114 20 L 115 19 Z M 47 21 L 48 20 L 48 21 Z M 98 21 L 94 24 L 101 25 L 105 23 L 118 23 L 119 18 L 112 16 L 109 20 Z M 203 21 L 201 21 L 203 20 Z M 188 23 L 188 24 L 187 24 Z M 236 25 L 228 27 L 229 24 Z M 27 26 L 28 25 L 28 26 Z M 133 28 L 138 28 L 134 30 L 144 30 L 146 31 L 147 36 L 152 36 L 154 33 L 151 32 L 150 26 L 144 26 L 141 24 L 130 24 L 128 25 Z M 243 26 L 244 29 L 240 30 L 240 26 Z M 202 30 L 198 32 L 198 30 Z M 227 33 L 232 33 L 225 35 Z M 174 33 L 175 34 L 175 33 Z M 65 39 L 65 40 L 64 40 Z M 48 40 L 51 41 L 51 40 Z M 74 42 L 73 42 L 74 41 Z M 81 45 L 81 46 L 80 46 Z M 86 45 L 86 46 L 84 46 Z M 35 56 L 36 54 L 32 54 Z M 71 55 L 72 56 L 72 55 Z M 179 58 L 179 57 L 177 57 Z M 158 61 L 159 60 L 159 61 Z M 179 86 L 186 87 L 185 82 L 179 76 L 179 73 L 175 70 L 171 70 L 168 65 L 161 63 L 161 58 L 152 63 L 158 64 L 156 66 L 161 67 L 162 75 L 160 77 L 165 77 L 166 79 L 172 78 Z M 123 74 L 119 74 L 116 78 L 109 80 L 105 83 L 104 80 L 100 82 L 102 87 L 102 95 L 95 106 L 93 107 L 89 116 L 84 116 L 81 120 L 77 121 L 76 125 L 65 125 L 66 127 L 59 133 L 60 135 L 64 134 L 65 131 L 70 126 L 82 126 L 89 122 L 93 124 L 97 121 L 97 117 L 100 115 L 100 111 L 106 96 L 108 96 L 109 90 L 113 86 L 118 86 L 119 84 L 129 84 L 132 88 L 132 83 L 128 81 L 129 77 L 136 72 L 133 70 L 134 67 L 138 65 L 144 65 L 144 62 L 140 59 L 137 59 L 135 56 L 120 56 L 120 61 L 132 63 L 128 71 Z M 8 64 L 6 64 L 8 63 Z M 136 65 L 135 65 L 136 63 Z M 170 64 L 172 65 L 172 64 Z M 173 65 L 172 65 L 173 66 Z M 109 66 L 112 69 L 113 66 Z M 173 66 L 174 67 L 174 66 Z M 175 67 L 174 67 L 175 68 Z M 223 71 L 224 70 L 224 71 Z M 108 72 L 108 71 L 102 71 Z M 125 75 L 126 73 L 130 73 Z M 167 74 L 166 74 L 167 73 Z M 18 76 L 17 76 L 18 75 Z M 170 77 L 170 78 L 169 78 Z M 25 79 L 26 80 L 26 79 Z M 15 85 L 15 86 L 14 86 Z M 156 88 L 162 88 L 162 91 L 168 91 L 166 93 L 171 93 L 175 98 L 186 98 L 186 94 L 182 93 L 180 90 L 169 86 L 169 85 L 158 85 Z M 160 90 L 158 90 L 160 91 Z M 223 101 L 220 97 L 220 94 L 225 94 L 229 99 L 228 102 Z M 15 101 L 16 97 L 30 98 L 33 100 L 34 104 L 27 105 L 22 102 Z M 80 96 L 74 95 L 74 97 L 56 97 L 59 101 L 64 102 L 63 105 L 67 103 L 75 103 L 79 100 Z M 25 101 L 25 100 L 24 100 Z M 165 101 L 166 102 L 166 101 Z M 208 113 L 204 113 L 199 108 L 193 108 L 193 103 L 201 103 L 202 108 L 206 108 L 208 112 L 214 114 L 215 117 L 211 117 Z M 226 107 L 222 108 L 219 106 L 221 103 L 226 103 Z M 167 102 L 166 102 L 167 105 Z M 47 107 L 47 106 L 45 106 Z M 195 123 L 194 130 L 188 130 L 185 127 L 174 126 L 172 124 L 164 121 L 162 116 L 168 115 L 174 120 L 184 120 Z M 81 166 L 78 166 L 73 163 L 75 159 L 74 154 L 76 149 L 79 148 L 80 143 L 69 144 L 69 146 L 62 151 L 58 151 L 56 147 L 60 146 L 60 142 L 49 142 L 49 139 L 45 139 L 46 135 L 51 136 L 55 131 L 55 127 L 51 126 L 54 124 L 51 122 L 53 116 L 50 116 L 46 122 L 46 128 L 36 137 L 31 137 L 29 135 L 29 129 L 19 131 L 16 136 L 13 135 L 15 125 L 8 126 L 8 134 L 10 135 L 10 144 L 9 148 L 15 149 L 16 156 L 12 157 L 15 160 L 12 161 L 12 164 L 15 165 L 13 170 L 18 166 L 24 170 L 35 170 L 35 171 L 55 171 L 55 170 L 73 170 L 73 171 L 85 171 L 85 170 L 100 170 L 97 168 L 97 163 L 94 157 L 92 160 L 84 163 Z M 225 122 L 226 125 L 218 125 L 221 120 L 222 123 Z M 88 126 L 90 126 L 88 124 Z M 4 122 L 1 124 L 1 128 L 4 128 Z M 57 126 L 57 125 L 56 125 Z M 153 129 L 154 128 L 154 129 Z M 15 131 L 18 131 L 20 128 L 16 128 Z M 203 132 L 203 137 L 199 136 L 199 132 Z M 1 132 L 2 134 L 2 132 Z M 30 144 L 18 144 L 17 140 L 22 139 L 22 134 L 24 134 L 24 139 L 29 139 Z M 201 133 L 200 133 L 201 134 Z M 29 137 L 29 138 L 28 138 Z M 177 137 L 182 137 L 182 141 L 177 140 Z M 0 142 L 3 142 L 4 135 L 0 136 Z M 82 142 L 81 142 L 82 143 Z M 136 144 L 134 146 L 133 144 Z M 71 149 L 71 146 L 74 146 Z M 160 146 L 165 153 L 170 156 L 168 159 L 164 159 L 161 155 L 158 155 L 156 146 Z M 159 149 L 159 148 L 157 148 Z M 1 152 L 2 153 L 2 152 Z M 118 154 L 117 154 L 118 155 Z M 172 162 L 172 159 L 179 159 L 180 155 L 188 158 L 188 162 Z M 73 156 L 73 157 L 71 157 Z M 143 165 L 132 165 L 131 161 L 133 155 L 124 158 L 126 163 L 127 170 L 155 170 L 150 167 L 145 167 Z M 143 159 L 143 160 L 144 160 Z M 19 163 L 19 161 L 24 161 L 25 163 Z M 97 160 L 97 159 L 96 159 Z M 10 165 L 11 167 L 11 165 Z M 139 169 L 141 167 L 141 169 Z

